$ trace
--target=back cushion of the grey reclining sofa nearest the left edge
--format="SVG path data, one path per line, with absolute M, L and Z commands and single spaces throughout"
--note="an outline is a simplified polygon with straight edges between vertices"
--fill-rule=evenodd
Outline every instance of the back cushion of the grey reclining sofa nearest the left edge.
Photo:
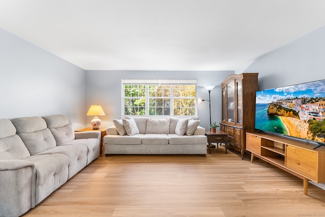
M 19 160 L 29 156 L 12 122 L 8 119 L 0 119 L 0 160 Z

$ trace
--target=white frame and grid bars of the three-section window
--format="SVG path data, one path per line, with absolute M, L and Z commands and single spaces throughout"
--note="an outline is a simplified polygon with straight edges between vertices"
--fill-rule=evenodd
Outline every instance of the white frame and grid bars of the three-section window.
M 125 97 L 125 85 L 145 85 L 146 86 L 146 97 L 145 97 L 145 115 L 125 115 L 124 114 L 124 99 L 132 99 Z M 170 115 L 149 115 L 149 85 L 171 85 L 171 96 L 170 96 Z M 173 87 L 174 85 L 194 85 L 195 86 L 195 96 L 187 97 L 186 99 L 194 99 L 194 115 L 174 115 L 174 99 L 184 99 L 184 97 L 174 97 Z M 197 79 L 122 79 L 122 106 L 121 114 L 122 116 L 150 116 L 150 117 L 164 117 L 164 116 L 175 116 L 175 117 L 197 117 L 198 116 L 198 106 L 197 106 L 197 94 L 198 94 L 198 80 Z M 138 99 L 139 97 L 135 97 Z M 161 99 L 166 97 L 157 97 L 156 99 Z

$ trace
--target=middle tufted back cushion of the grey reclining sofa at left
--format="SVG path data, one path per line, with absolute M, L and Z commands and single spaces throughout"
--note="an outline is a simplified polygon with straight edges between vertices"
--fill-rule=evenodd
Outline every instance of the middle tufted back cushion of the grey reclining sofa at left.
M 11 122 L 31 155 L 55 147 L 55 139 L 42 117 L 19 117 Z

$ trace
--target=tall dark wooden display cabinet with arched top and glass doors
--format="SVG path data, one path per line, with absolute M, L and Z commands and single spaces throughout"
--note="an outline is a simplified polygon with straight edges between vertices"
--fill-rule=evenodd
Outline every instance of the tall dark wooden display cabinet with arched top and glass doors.
M 222 83 L 220 131 L 228 133 L 228 147 L 245 153 L 246 132 L 255 129 L 255 94 L 258 73 L 230 75 Z

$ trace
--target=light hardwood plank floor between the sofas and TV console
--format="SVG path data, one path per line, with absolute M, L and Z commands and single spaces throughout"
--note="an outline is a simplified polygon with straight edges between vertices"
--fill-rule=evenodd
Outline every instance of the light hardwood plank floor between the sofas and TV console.
M 325 216 L 325 191 L 224 146 L 202 156 L 104 155 L 27 216 Z

